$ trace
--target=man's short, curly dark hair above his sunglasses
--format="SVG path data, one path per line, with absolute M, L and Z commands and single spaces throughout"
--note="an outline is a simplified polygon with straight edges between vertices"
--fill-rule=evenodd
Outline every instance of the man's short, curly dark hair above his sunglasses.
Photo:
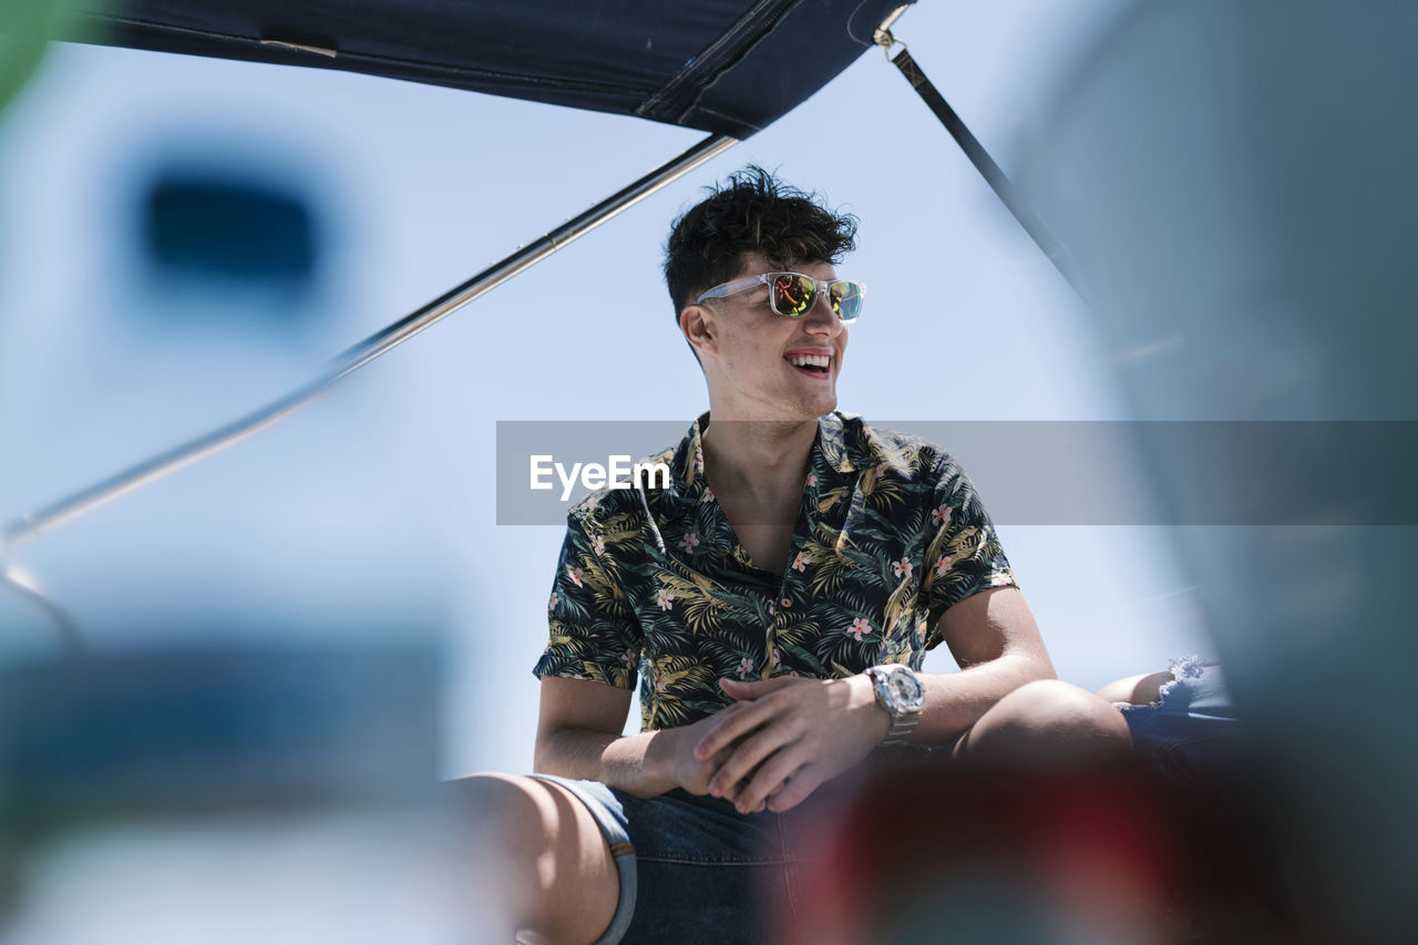
M 675 220 L 665 243 L 675 321 L 700 292 L 737 275 L 744 253 L 759 251 L 773 265 L 835 264 L 854 248 L 856 217 L 834 213 L 817 194 L 749 165 Z

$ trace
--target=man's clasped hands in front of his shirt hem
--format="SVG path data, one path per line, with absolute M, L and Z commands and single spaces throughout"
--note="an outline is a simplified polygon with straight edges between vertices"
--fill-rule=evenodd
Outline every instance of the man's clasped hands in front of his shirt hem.
M 865 675 L 719 682 L 735 702 L 678 731 L 675 780 L 740 813 L 797 806 L 866 758 L 889 726 Z

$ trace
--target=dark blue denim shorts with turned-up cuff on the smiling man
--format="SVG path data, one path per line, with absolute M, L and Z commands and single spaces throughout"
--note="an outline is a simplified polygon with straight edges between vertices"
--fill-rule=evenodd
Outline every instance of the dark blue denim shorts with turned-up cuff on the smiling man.
M 777 941 L 817 857 L 813 819 L 845 796 L 824 785 L 781 814 L 740 814 L 722 797 L 681 789 L 642 799 L 594 780 L 532 776 L 574 793 L 610 843 L 620 902 L 597 945 Z

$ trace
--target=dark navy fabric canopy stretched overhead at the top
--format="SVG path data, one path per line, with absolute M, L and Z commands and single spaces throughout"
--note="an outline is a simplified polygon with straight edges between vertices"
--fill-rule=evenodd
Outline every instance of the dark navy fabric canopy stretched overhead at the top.
M 71 38 L 313 65 L 747 138 L 913 0 L 71 0 Z

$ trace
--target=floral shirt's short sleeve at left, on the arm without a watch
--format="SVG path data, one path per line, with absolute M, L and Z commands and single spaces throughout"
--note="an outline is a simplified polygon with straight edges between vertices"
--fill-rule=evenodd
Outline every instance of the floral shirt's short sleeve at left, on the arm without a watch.
M 618 568 L 594 525 L 571 516 L 547 600 L 549 639 L 532 673 L 635 688 L 642 646 L 640 621 Z

